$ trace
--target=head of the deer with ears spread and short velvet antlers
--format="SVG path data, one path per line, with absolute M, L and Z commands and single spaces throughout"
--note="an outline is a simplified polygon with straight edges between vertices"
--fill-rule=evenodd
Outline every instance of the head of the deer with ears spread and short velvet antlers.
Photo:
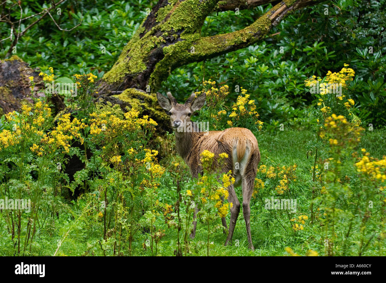
M 170 92 L 168 92 L 167 95 L 168 98 L 157 92 L 157 100 L 158 104 L 168 111 L 173 130 L 176 130 L 178 127 L 183 125 L 184 121 L 185 123 L 190 122 L 191 115 L 203 107 L 206 99 L 205 92 L 197 98 L 196 95 L 192 93 L 192 95 L 186 100 L 185 104 L 179 104 Z

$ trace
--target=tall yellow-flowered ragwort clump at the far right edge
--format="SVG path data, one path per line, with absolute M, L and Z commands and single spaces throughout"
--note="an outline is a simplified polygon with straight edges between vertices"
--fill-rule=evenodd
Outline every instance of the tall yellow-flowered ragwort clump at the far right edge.
M 325 79 L 318 78 L 342 83 L 343 92 L 340 96 L 321 92 L 312 112 L 317 125 L 315 141 L 309 144 L 309 153 L 315 158 L 311 223 L 317 221 L 322 227 L 321 239 L 328 256 L 361 256 L 371 243 L 381 246 L 384 242 L 384 158 L 370 158 L 366 149 L 358 153 L 364 129 L 355 115 L 354 100 L 347 98 L 347 84 L 353 76 L 352 69 L 342 68 L 339 73 L 328 72 Z M 315 79 L 306 80 L 306 86 Z

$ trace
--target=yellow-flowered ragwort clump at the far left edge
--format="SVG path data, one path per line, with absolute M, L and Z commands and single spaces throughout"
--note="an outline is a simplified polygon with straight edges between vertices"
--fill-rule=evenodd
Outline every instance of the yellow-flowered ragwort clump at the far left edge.
M 53 69 L 49 70 L 50 75 L 40 74 L 45 82 L 54 79 Z M 83 142 L 80 130 L 86 127 L 78 119 L 71 120 L 70 114 L 64 114 L 50 129 L 49 95 L 35 98 L 33 77 L 29 79 L 34 105 L 22 105 L 19 113 L 6 114 L 5 124 L 10 130 L 0 133 L 1 197 L 30 200 L 28 212 L 16 207 L 2 210 L 13 254 L 33 253 L 36 237 L 45 232 L 52 234 L 55 218 L 60 212 L 68 212 L 61 200 L 64 181 L 68 181 L 63 173 L 65 155 L 73 142 Z

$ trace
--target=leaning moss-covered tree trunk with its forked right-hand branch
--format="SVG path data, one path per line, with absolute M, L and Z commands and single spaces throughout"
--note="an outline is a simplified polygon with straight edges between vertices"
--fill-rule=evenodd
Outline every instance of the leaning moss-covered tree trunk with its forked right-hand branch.
M 318 2 L 322 0 L 159 0 L 118 61 L 98 82 L 98 92 L 108 96 L 137 88 L 154 93 L 174 69 L 254 44 L 290 12 Z M 276 5 L 248 27 L 201 37 L 209 14 L 267 3 Z

